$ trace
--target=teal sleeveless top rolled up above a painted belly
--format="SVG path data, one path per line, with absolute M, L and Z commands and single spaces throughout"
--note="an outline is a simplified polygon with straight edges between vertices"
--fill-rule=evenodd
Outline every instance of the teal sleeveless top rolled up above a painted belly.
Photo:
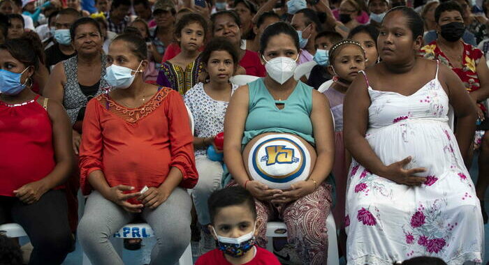
M 314 145 L 312 137 L 312 87 L 298 82 L 289 98 L 274 100 L 263 78 L 248 84 L 249 107 L 242 144 L 247 144 L 265 132 L 285 132 L 298 135 Z M 275 103 L 284 103 L 279 109 Z

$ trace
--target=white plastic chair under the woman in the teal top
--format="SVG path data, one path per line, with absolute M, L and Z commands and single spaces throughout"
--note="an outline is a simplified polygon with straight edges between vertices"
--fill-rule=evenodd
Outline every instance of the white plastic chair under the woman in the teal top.
M 326 218 L 326 227 L 328 228 L 328 265 L 339 265 L 340 257 L 338 256 L 338 243 L 336 234 L 335 218 L 330 213 Z M 267 232 L 265 234 L 268 237 L 267 250 L 273 252 L 274 237 L 287 236 L 287 227 L 284 222 L 268 222 Z

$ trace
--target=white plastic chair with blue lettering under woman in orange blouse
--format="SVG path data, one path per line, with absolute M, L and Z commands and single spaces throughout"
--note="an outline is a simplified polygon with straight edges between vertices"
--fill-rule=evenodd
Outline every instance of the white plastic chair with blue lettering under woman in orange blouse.
M 122 249 L 124 248 L 124 243 L 120 239 L 147 239 L 154 236 L 153 229 L 146 223 L 139 224 L 129 224 L 124 225 L 119 232 L 114 234 L 115 240 L 110 240 L 115 248 L 115 251 L 122 257 Z M 171 242 L 168 242 L 169 244 Z M 192 260 L 192 248 L 189 243 L 187 249 L 185 249 L 182 257 L 178 261 L 178 265 L 192 265 L 194 264 Z M 88 259 L 85 252 L 83 252 L 83 265 L 92 265 L 92 262 Z

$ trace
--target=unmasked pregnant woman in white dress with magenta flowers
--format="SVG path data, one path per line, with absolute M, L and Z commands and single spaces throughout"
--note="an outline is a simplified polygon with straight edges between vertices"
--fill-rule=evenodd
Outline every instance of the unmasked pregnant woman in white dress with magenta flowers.
M 423 22 L 393 8 L 377 40 L 381 63 L 351 84 L 344 139 L 354 160 L 346 191 L 348 264 L 393 264 L 433 256 L 481 264 L 479 199 L 464 165 L 476 106 L 460 79 L 416 57 Z M 455 137 L 448 104 L 458 118 Z

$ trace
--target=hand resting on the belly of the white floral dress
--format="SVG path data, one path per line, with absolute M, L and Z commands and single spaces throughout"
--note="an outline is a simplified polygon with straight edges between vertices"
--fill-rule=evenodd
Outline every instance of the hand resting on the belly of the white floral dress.
M 404 185 L 421 185 L 425 183 L 426 178 L 423 176 L 414 176 L 416 173 L 426 172 L 423 167 L 417 167 L 413 169 L 404 169 L 404 167 L 411 162 L 411 156 L 404 158 L 403 160 L 393 162 L 384 169 L 384 178 L 394 181 L 398 184 Z

